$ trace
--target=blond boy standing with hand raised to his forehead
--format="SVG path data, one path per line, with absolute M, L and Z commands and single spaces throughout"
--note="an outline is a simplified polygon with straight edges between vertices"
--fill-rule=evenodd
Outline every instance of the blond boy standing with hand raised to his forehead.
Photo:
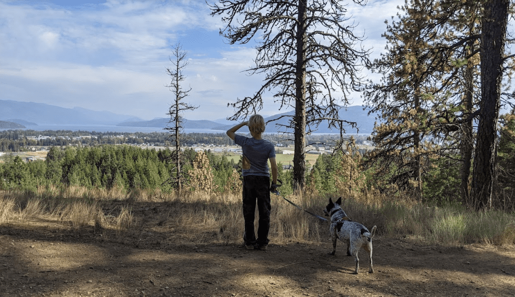
M 249 126 L 252 138 L 235 133 L 243 126 Z M 276 150 L 269 141 L 262 138 L 263 132 L 265 132 L 265 120 L 258 114 L 227 130 L 227 135 L 243 149 L 243 217 L 245 219 L 243 240 L 247 250 L 266 251 L 269 242 L 271 205 L 268 160 L 272 170 L 272 184 L 277 184 Z M 257 239 L 254 235 L 256 202 L 259 211 Z

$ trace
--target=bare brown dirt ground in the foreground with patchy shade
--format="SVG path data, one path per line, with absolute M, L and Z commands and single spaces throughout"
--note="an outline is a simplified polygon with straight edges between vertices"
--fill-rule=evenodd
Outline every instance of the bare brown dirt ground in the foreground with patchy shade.
M 115 239 L 116 238 L 116 239 Z M 320 244 L 193 246 L 52 221 L 0 225 L 0 296 L 515 296 L 515 248 L 374 238 L 373 274 Z M 166 242 L 164 244 L 163 242 Z

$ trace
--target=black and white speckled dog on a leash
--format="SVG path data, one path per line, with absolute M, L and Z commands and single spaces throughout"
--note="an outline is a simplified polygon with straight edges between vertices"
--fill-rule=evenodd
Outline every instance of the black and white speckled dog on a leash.
M 370 269 L 368 273 L 373 273 L 374 268 L 372 266 L 372 237 L 374 237 L 376 226 L 372 227 L 372 232 L 357 222 L 351 221 L 347 214 L 341 209 L 341 197 L 336 202 L 333 202 L 329 198 L 329 204 L 324 209 L 324 214 L 331 217 L 331 226 L 329 231 L 333 237 L 333 252 L 330 255 L 334 255 L 336 252 L 336 240 L 347 241 L 347 255 L 354 256 L 356 261 L 356 269 L 354 274 L 359 272 L 359 258 L 357 252 L 363 247 L 368 252 L 368 258 L 370 260 Z

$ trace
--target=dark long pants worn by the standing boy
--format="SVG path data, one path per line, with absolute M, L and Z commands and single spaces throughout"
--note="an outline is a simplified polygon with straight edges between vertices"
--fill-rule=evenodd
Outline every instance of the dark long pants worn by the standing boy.
M 258 239 L 254 234 L 254 216 L 258 203 L 259 225 Z M 260 246 L 268 244 L 268 230 L 270 229 L 270 178 L 262 176 L 246 176 L 243 178 L 243 218 L 245 219 L 245 233 L 243 240 L 248 246 L 257 243 Z

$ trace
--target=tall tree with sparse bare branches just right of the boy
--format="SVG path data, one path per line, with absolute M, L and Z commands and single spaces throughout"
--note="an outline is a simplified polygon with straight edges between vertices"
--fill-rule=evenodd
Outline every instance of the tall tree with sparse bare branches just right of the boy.
M 288 126 L 295 136 L 295 189 L 305 185 L 306 133 L 323 122 L 341 134 L 346 126 L 355 127 L 340 119 L 338 110 L 362 83 L 359 71 L 368 63 L 368 51 L 357 47 L 361 38 L 353 24 L 346 25 L 346 14 L 346 4 L 337 0 L 220 0 L 212 6 L 212 15 L 221 15 L 227 24 L 220 34 L 230 44 L 248 43 L 256 35 L 260 40 L 248 72 L 265 74 L 264 83 L 254 95 L 232 103 L 230 119 L 260 111 L 266 92 L 281 108 L 295 107 Z

